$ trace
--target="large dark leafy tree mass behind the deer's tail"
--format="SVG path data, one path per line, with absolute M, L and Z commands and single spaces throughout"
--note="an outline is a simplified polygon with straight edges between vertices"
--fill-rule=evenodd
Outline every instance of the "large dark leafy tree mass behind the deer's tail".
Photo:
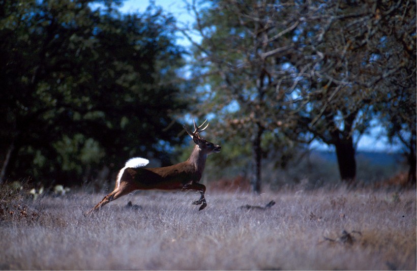
M 80 184 L 91 165 L 158 157 L 177 141 L 179 125 L 164 130 L 187 107 L 174 19 L 158 8 L 121 15 L 112 2 L 91 3 L 2 3 L 2 181 Z

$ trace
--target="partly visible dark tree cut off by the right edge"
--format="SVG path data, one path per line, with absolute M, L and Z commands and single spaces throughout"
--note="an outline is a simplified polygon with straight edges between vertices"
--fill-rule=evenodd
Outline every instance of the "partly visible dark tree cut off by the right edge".
M 383 93 L 374 110 L 391 142 L 403 145 L 409 165 L 408 183 L 416 183 L 416 14 L 415 1 L 381 3 L 375 66 L 384 67 L 376 78 Z M 386 14 L 388 13 L 388 15 Z

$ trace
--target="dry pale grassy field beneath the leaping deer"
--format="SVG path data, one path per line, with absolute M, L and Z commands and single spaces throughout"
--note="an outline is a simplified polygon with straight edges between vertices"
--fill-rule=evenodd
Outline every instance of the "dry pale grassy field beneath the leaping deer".
M 0 197 L 0 268 L 416 269 L 415 190 L 207 190 L 201 212 L 198 193 L 138 192 L 85 217 L 103 196 Z

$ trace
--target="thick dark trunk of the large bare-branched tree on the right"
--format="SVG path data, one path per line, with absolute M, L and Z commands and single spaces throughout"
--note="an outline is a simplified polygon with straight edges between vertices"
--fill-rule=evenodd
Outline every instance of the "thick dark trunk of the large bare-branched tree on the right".
M 340 178 L 348 183 L 352 183 L 356 177 L 353 139 L 349 137 L 348 139 L 339 140 L 335 146 Z

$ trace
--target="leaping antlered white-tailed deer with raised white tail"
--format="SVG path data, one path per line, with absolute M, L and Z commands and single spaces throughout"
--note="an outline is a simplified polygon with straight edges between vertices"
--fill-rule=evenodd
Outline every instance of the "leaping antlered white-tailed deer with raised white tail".
M 207 124 L 204 128 L 201 128 L 204 123 L 197 127 L 194 122 L 194 132 L 184 126 L 184 129 L 195 143 L 193 152 L 187 161 L 167 167 L 141 168 L 149 163 L 147 159 L 140 157 L 130 159 L 126 162 L 125 167 L 119 171 L 114 191 L 105 196 L 88 214 L 135 190 L 195 190 L 200 192 L 201 196 L 193 204 L 202 204 L 199 210 L 204 209 L 207 206 L 204 198 L 205 186 L 198 182 L 203 173 L 207 156 L 219 153 L 221 149 L 221 146 L 200 137 L 199 133 L 208 126 Z

